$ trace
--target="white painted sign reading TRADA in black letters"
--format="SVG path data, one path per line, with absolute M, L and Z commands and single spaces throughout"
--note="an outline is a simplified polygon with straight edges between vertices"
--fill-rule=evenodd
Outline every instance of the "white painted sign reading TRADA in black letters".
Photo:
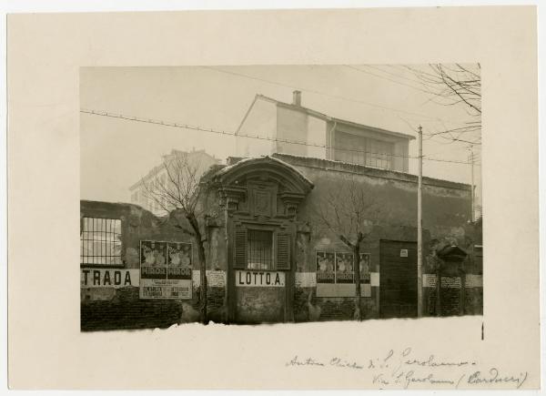
M 80 269 L 82 288 L 126 288 L 138 286 L 138 269 Z

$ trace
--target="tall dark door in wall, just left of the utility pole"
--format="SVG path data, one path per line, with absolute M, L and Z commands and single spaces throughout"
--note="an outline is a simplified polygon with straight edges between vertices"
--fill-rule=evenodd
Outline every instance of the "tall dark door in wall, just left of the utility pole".
M 417 317 L 417 244 L 379 243 L 379 316 Z

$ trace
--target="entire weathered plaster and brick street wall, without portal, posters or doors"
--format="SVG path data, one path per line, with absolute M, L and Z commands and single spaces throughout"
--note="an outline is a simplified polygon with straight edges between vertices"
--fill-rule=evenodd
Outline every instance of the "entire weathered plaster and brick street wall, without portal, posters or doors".
M 415 228 L 417 218 L 417 178 L 399 172 L 366 168 L 356 165 L 317 158 L 275 155 L 296 168 L 308 178 L 314 188 L 299 204 L 298 215 L 290 220 L 293 229 L 292 265 L 295 279 L 294 289 L 283 294 L 283 299 L 291 301 L 291 307 L 283 312 L 283 299 L 262 296 L 256 289 L 248 291 L 248 299 L 236 301 L 234 294 L 227 302 L 227 247 L 226 224 L 221 208 L 210 211 L 204 232 L 207 236 L 207 297 L 209 318 L 216 322 L 235 321 L 258 322 L 278 320 L 319 321 L 352 320 L 354 307 L 354 284 L 336 286 L 335 291 L 319 293 L 317 283 L 317 252 L 351 253 L 339 234 L 324 228 L 317 218 L 317 208 L 321 199 L 332 191 L 341 189 L 349 181 L 369 194 L 379 206 L 370 214 L 366 225 L 366 238 L 360 244 L 360 252 L 369 254 L 369 275 L 363 279 L 360 297 L 363 319 L 379 318 L 379 240 L 394 241 L 417 240 Z M 221 168 L 221 167 L 220 167 Z M 460 273 L 444 274 L 441 289 L 441 314 L 458 315 L 480 314 L 483 307 L 481 286 L 481 259 L 475 258 L 472 249 L 481 245 L 481 228 L 470 226 L 470 187 L 431 178 L 424 179 L 423 194 L 423 255 L 425 274 L 434 275 L 435 269 L 429 266 L 430 247 L 441 243 L 456 244 L 470 252 L 462 264 L 465 280 Z M 282 202 L 281 202 L 282 204 Z M 243 208 L 244 203 L 241 204 Z M 280 205 L 280 204 L 279 204 Z M 283 207 L 279 206 L 283 212 Z M 186 234 L 176 227 L 176 218 L 156 218 L 147 210 L 130 204 L 81 201 L 81 218 L 119 218 L 122 224 L 122 261 L 120 269 L 139 270 L 140 240 L 163 240 L 192 242 Z M 288 221 L 284 219 L 283 221 Z M 290 231 L 292 232 L 292 231 Z M 195 244 L 194 244 L 195 246 Z M 138 287 L 94 287 L 81 289 L 81 328 L 82 330 L 112 330 L 167 327 L 174 323 L 198 320 L 199 310 L 199 262 L 197 249 L 193 249 L 193 274 L 191 300 L 141 300 Z M 83 269 L 82 269 L 83 270 Z M 293 277 L 292 277 L 293 275 Z M 459 278 L 458 278 L 459 277 Z M 430 280 L 430 279 L 429 279 Z M 435 316 L 436 289 L 424 283 L 423 311 L 425 315 Z M 458 283 L 459 282 L 459 283 Z M 464 283 L 464 290 L 461 288 Z M 458 286 L 459 285 L 459 286 Z M 287 287 L 292 287 L 288 284 Z M 352 289 L 351 289 L 352 288 Z M 236 289 L 236 288 L 234 288 Z M 251 288 L 247 288 L 251 289 Z M 327 288 L 328 289 L 328 288 Z M 352 290 L 352 291 L 351 291 Z M 330 290 L 331 291 L 331 290 Z M 279 291 L 268 290 L 269 293 Z M 235 290 L 234 290 L 235 293 Z M 287 297 L 288 296 L 288 297 Z M 263 297 L 263 298 L 262 298 Z M 271 297 L 271 296 L 269 296 Z M 265 300 L 264 300 L 265 299 Z M 274 304 L 271 301 L 278 302 Z M 247 317 L 238 317 L 237 308 L 243 307 Z M 290 312 L 290 309 L 291 311 Z M 259 312 L 258 312 L 259 311 Z M 235 312 L 235 315 L 234 315 Z M 254 312 L 254 313 L 253 313 Z M 288 312 L 288 313 L 287 313 Z M 293 314 L 293 316 L 292 316 Z M 231 316 L 230 316 L 231 315 Z M 234 316 L 233 316 L 234 315 Z M 277 319 L 276 319 L 277 318 Z

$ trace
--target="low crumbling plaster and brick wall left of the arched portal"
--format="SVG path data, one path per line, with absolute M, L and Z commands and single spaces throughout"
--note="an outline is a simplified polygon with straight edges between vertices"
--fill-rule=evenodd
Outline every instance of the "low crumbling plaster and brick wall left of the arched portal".
M 199 260 L 195 242 L 175 227 L 174 218 L 156 218 L 149 211 L 132 204 L 81 201 L 80 218 L 121 219 L 122 265 L 119 269 L 140 268 L 140 240 L 188 242 L 194 244 L 191 300 L 141 300 L 138 287 L 81 288 L 81 330 L 116 330 L 166 328 L 173 324 L 199 319 Z M 208 318 L 227 320 L 226 308 L 226 249 L 224 232 L 213 221 L 207 227 L 206 244 Z M 103 268 L 95 265 L 91 271 Z

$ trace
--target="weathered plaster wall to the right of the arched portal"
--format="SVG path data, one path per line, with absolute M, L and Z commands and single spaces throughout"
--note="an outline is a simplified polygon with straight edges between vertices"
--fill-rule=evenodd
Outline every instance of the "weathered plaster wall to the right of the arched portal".
M 417 177 L 409 174 L 385 171 L 358 165 L 318 158 L 276 154 L 297 168 L 314 184 L 313 190 L 298 208 L 298 220 L 303 224 L 296 236 L 295 265 L 297 279 L 294 315 L 296 321 L 309 320 L 310 311 L 315 320 L 348 320 L 354 313 L 354 297 L 317 297 L 317 251 L 347 252 L 351 250 L 339 239 L 339 235 L 321 227 L 317 218 L 320 200 L 332 195 L 348 182 L 366 190 L 369 197 L 379 202 L 380 212 L 370 221 L 369 234 L 360 246 L 361 253 L 370 254 L 369 271 L 379 279 L 379 239 L 417 241 Z M 432 241 L 446 241 L 471 250 L 481 243 L 481 229 L 468 225 L 470 218 L 470 186 L 445 180 L 423 180 L 423 255 L 430 254 Z M 334 194 L 335 195 L 335 194 Z M 370 216 L 370 219 L 373 216 Z M 469 273 L 479 272 L 473 260 L 465 265 Z M 299 276 L 298 276 L 299 274 Z M 379 285 L 371 285 L 371 295 L 361 299 L 362 316 L 366 319 L 379 317 Z M 442 289 L 445 314 L 459 314 L 460 293 L 455 289 Z M 435 315 L 435 305 L 430 289 L 424 289 L 424 314 Z M 309 301 L 309 292 L 312 298 Z M 467 289 L 464 312 L 481 313 L 480 287 Z M 311 315 L 313 316 L 313 315 Z

